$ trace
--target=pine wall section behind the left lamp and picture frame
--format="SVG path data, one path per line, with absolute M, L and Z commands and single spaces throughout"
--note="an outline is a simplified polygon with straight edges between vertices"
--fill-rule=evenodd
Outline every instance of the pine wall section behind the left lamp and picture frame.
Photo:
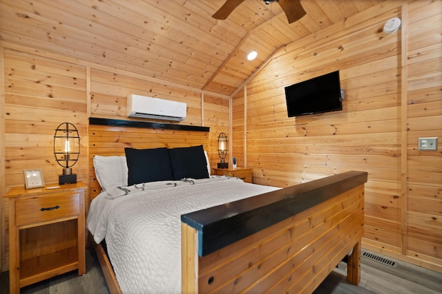
M 60 123 L 73 123 L 81 138 L 73 172 L 87 179 L 86 68 L 1 48 L 4 56 L 5 169 L 1 172 L 2 270 L 9 264 L 7 188 L 23 185 L 23 169 L 41 169 L 46 183 L 57 182 L 61 167 L 53 155 L 53 136 Z M 2 122 L 3 123 L 3 122 Z M 6 189 L 5 189 L 6 188 Z

